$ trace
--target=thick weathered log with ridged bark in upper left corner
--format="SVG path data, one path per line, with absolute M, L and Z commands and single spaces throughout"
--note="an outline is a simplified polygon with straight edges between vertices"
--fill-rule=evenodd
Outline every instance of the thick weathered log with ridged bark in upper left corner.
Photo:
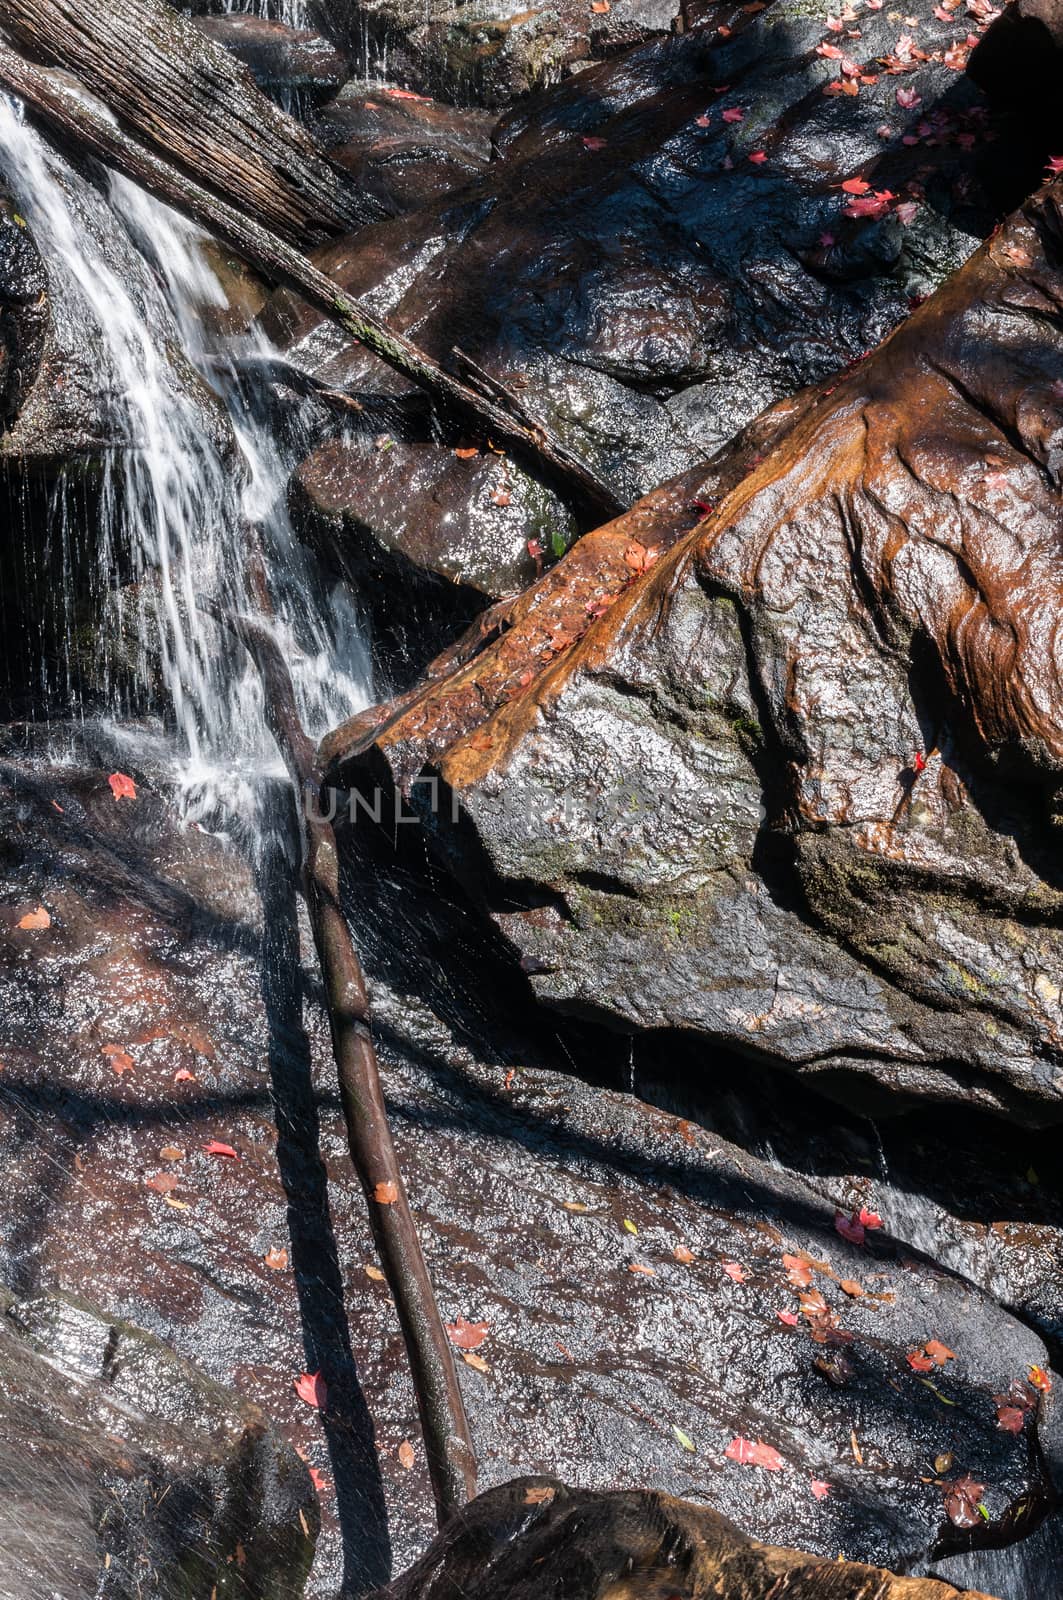
M 0 27 L 72 72 L 191 178 L 309 246 L 384 216 L 221 45 L 163 0 L 0 0 Z

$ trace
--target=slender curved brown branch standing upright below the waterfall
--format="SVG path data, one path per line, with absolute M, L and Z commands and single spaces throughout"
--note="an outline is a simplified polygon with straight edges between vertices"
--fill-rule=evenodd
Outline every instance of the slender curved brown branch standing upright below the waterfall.
M 255 661 L 263 680 L 266 722 L 296 790 L 303 893 L 325 987 L 347 1144 L 399 1312 L 442 1526 L 475 1494 L 475 1454 L 453 1350 L 439 1315 L 391 1136 L 368 1026 L 365 976 L 339 902 L 336 835 L 319 806 L 317 755 L 299 722 L 291 675 L 269 630 L 250 618 L 221 613 L 210 603 L 203 610 L 229 627 Z

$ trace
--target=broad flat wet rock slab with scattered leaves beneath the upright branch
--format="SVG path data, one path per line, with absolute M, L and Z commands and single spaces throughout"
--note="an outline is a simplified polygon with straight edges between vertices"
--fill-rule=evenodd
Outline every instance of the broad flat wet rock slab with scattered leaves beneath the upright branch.
M 269 862 L 261 907 L 232 846 L 176 829 L 165 790 L 138 781 L 136 802 L 115 802 L 106 768 L 5 768 L 3 1274 L 22 1299 L 102 1299 L 259 1403 L 323 1474 L 309 1592 L 335 1594 L 339 1534 L 349 1579 L 379 1586 L 389 1534 L 395 1568 L 431 1538 L 431 1494 L 419 1448 L 411 1470 L 397 1454 L 416 1446 L 413 1397 L 365 1270 L 290 878 Z M 483 1485 L 653 1483 L 773 1544 L 797 1515 L 824 1560 L 893 1568 L 1033 1531 L 1052 1499 L 1034 1438 L 1050 1438 L 1055 1397 L 1020 1435 L 997 1426 L 994 1397 L 1045 1365 L 1036 1334 L 897 1245 L 889 1195 L 885 1227 L 856 1243 L 802 1179 L 528 1066 L 543 1046 L 514 1027 L 512 978 L 472 942 L 474 920 L 447 922 L 389 861 L 352 894 L 440 1307 L 487 1323 L 472 1352 L 487 1371 L 461 1368 Z M 38 906 L 50 925 L 21 928 Z M 490 1062 L 459 1043 L 463 989 L 503 1051 Z M 932 1339 L 953 1354 L 927 1376 L 909 1355 Z M 325 1378 L 323 1414 L 293 1392 L 304 1370 Z M 781 1464 L 728 1459 L 735 1438 Z M 945 1509 L 943 1485 L 965 1474 L 989 1517 L 970 1533 Z

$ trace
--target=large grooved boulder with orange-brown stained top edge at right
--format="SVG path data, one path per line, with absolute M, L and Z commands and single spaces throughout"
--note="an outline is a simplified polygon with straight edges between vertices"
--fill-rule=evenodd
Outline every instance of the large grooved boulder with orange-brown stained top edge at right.
M 544 1000 L 1058 1120 L 1061 232 L 1053 186 L 523 683 L 499 640 L 384 725 Z

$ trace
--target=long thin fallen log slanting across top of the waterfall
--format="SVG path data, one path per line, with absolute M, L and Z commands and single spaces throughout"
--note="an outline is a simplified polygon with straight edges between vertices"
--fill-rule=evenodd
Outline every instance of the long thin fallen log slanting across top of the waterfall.
M 5 3 L 6 0 L 0 0 L 0 10 Z M 523 402 L 501 384 L 493 384 L 491 394 L 485 395 L 455 378 L 368 307 L 339 290 L 301 251 L 245 216 L 237 206 L 219 200 L 211 190 L 186 179 L 174 166 L 117 126 L 104 109 L 54 74 L 26 61 L 5 43 L 0 43 L 0 83 L 18 94 L 51 131 L 67 144 L 74 144 L 80 154 L 88 152 L 131 178 L 174 211 L 200 222 L 272 282 L 288 285 L 335 318 L 383 362 L 427 390 L 445 416 L 487 434 L 496 445 L 507 446 L 517 461 L 570 501 L 583 515 L 584 525 L 596 525 L 624 510 L 616 493 L 530 416 Z

